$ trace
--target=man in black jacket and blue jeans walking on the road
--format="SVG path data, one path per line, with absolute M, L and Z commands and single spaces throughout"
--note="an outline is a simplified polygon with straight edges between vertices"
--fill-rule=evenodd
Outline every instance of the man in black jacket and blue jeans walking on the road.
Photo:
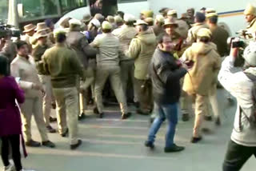
M 178 101 L 181 93 L 180 79 L 186 74 L 187 66 L 176 60 L 170 52 L 174 50 L 168 34 L 158 37 L 158 49 L 150 63 L 150 76 L 153 82 L 154 111 L 158 117 L 151 125 L 147 147 L 154 148 L 154 139 L 162 122 L 167 119 L 168 129 L 166 133 L 165 152 L 178 152 L 185 149 L 174 144 L 174 134 L 178 123 Z

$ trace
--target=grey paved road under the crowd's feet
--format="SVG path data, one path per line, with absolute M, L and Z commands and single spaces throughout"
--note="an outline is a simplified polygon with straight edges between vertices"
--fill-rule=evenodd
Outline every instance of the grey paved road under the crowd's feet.
M 189 122 L 179 121 L 175 141 L 186 146 L 182 153 L 163 152 L 165 125 L 158 133 L 156 149 L 146 149 L 143 143 L 149 129 L 148 117 L 134 114 L 128 121 L 121 121 L 118 107 L 112 106 L 106 108 L 103 119 L 88 111 L 87 119 L 79 124 L 83 141 L 79 149 L 70 151 L 67 138 L 50 134 L 57 148 L 27 148 L 29 157 L 22 159 L 22 163 L 25 168 L 38 171 L 221 171 L 235 110 L 224 94 L 218 90 L 223 125 L 217 128 L 212 122 L 205 122 L 213 132 L 199 144 L 190 143 L 194 118 Z M 34 140 L 40 140 L 35 126 L 33 136 Z M 252 157 L 242 171 L 255 171 L 255 163 Z

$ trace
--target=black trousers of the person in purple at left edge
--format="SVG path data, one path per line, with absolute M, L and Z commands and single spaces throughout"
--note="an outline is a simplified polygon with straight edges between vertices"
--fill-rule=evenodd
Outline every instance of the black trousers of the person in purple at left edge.
M 20 135 L 11 135 L 6 137 L 1 137 L 2 140 L 2 162 L 3 165 L 10 165 L 9 162 L 9 148 L 12 149 L 12 157 L 14 160 L 14 165 L 17 171 L 22 169 L 21 153 L 20 153 Z

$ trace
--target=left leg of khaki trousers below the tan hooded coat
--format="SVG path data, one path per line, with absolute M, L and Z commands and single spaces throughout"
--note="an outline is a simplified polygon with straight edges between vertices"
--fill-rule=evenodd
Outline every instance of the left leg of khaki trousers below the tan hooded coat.
M 200 137 L 202 121 L 204 120 L 204 114 L 206 113 L 206 100 L 207 96 L 195 94 L 195 119 L 194 119 L 194 133 L 193 137 Z

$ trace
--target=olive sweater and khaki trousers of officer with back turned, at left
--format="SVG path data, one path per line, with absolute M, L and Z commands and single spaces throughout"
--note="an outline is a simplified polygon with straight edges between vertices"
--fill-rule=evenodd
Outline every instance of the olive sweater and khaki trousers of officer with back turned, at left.
M 57 44 L 43 55 L 46 73 L 51 76 L 54 97 L 57 102 L 59 133 L 69 128 L 70 145 L 78 143 L 78 89 L 77 75 L 83 78 L 82 66 L 74 50 L 64 44 Z M 68 117 L 66 125 L 66 115 Z

